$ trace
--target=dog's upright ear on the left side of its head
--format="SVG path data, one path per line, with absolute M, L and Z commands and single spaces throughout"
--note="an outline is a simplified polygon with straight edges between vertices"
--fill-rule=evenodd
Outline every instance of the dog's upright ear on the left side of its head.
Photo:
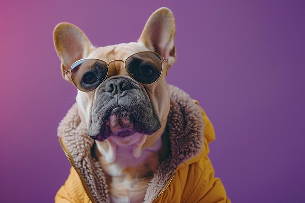
M 55 27 L 53 39 L 57 55 L 61 60 L 62 76 L 70 80 L 64 71 L 70 69 L 75 61 L 86 57 L 93 45 L 78 27 L 65 22 Z

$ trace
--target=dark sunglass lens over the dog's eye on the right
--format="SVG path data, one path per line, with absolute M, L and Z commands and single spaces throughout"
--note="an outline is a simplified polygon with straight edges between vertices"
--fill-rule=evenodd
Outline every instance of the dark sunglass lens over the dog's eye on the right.
M 153 52 L 141 52 L 129 56 L 125 61 L 126 70 L 139 83 L 150 85 L 157 81 L 162 72 L 160 56 Z

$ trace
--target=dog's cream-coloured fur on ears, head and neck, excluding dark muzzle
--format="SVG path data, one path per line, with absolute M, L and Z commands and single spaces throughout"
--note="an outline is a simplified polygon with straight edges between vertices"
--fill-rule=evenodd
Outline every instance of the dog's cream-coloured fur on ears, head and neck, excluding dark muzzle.
M 174 18 L 167 8 L 158 9 L 152 14 L 138 42 L 95 48 L 75 25 L 60 23 L 54 30 L 54 43 L 61 60 L 62 74 L 70 82 L 69 75 L 64 71 L 81 58 L 98 58 L 109 62 L 125 60 L 141 51 L 155 51 L 169 59 L 164 62 L 161 78 L 150 86 L 142 86 L 153 111 L 159 116 L 161 128 L 152 135 L 134 133 L 129 137 L 111 136 L 102 142 L 95 141 L 95 156 L 106 174 L 113 203 L 143 202 L 152 174 L 166 156 L 168 146 L 162 134 L 170 109 L 170 96 L 165 76 L 176 59 L 174 36 Z M 115 61 L 110 64 L 107 78 L 128 76 L 123 62 Z M 97 96 L 97 91 L 77 92 L 79 115 L 87 126 L 92 122 L 93 104 Z

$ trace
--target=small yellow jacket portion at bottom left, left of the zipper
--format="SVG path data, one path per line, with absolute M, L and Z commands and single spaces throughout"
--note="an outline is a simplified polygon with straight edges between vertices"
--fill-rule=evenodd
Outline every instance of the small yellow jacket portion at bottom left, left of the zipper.
M 55 203 L 89 203 L 89 199 L 82 188 L 76 170 L 71 167 L 70 175 L 55 196 Z

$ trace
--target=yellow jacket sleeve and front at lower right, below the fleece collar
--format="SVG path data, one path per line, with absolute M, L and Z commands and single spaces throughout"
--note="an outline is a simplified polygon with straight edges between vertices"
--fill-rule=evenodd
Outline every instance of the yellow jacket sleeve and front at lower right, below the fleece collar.
M 231 203 L 207 155 L 177 170 L 161 198 L 158 203 Z

